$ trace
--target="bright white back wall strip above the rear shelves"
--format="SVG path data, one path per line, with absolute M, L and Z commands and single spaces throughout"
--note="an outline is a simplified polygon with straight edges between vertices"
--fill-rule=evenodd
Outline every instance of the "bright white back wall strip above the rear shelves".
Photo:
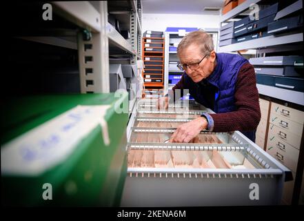
M 143 14 L 142 30 L 165 31 L 167 27 L 219 28 L 220 15 Z

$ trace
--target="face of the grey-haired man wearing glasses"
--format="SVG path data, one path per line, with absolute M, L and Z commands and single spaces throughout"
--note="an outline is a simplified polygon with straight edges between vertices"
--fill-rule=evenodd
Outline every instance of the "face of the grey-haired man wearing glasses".
M 179 60 L 181 61 L 181 64 L 195 64 L 201 61 L 204 56 L 205 55 L 201 54 L 199 46 L 192 44 L 181 51 Z M 194 68 L 191 69 L 188 67 L 185 72 L 191 77 L 192 81 L 197 83 L 212 73 L 214 69 L 214 62 L 212 62 L 214 61 L 213 58 L 215 59 L 214 51 L 212 51 L 212 56 L 207 56 L 201 61 L 199 68 L 194 70 Z

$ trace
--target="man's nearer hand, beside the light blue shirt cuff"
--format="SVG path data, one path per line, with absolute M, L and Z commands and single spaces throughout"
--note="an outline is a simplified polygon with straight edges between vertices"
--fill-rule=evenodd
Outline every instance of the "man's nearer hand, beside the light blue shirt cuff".
M 208 123 L 205 117 L 197 117 L 191 122 L 181 124 L 170 137 L 170 143 L 188 143 L 201 131 L 207 128 Z

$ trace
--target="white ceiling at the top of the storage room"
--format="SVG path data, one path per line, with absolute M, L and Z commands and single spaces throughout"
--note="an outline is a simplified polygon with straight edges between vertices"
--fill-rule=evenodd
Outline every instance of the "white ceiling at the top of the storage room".
M 143 14 L 219 15 L 207 12 L 205 7 L 221 8 L 224 0 L 141 0 Z

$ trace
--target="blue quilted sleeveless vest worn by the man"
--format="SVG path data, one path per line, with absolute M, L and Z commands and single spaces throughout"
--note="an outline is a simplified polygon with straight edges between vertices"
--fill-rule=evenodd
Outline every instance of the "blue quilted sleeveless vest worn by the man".
M 236 77 L 243 64 L 247 63 L 247 59 L 240 55 L 227 53 L 216 53 L 216 67 L 213 73 L 205 79 L 207 83 L 212 84 L 218 90 L 214 97 L 214 107 L 212 110 L 215 113 L 227 113 L 236 111 L 234 102 L 234 88 Z M 204 106 L 208 106 L 207 102 L 201 93 L 201 84 L 196 84 L 188 75 L 185 77 L 185 88 L 189 89 L 190 95 Z M 241 131 L 250 140 L 255 140 L 255 131 Z

